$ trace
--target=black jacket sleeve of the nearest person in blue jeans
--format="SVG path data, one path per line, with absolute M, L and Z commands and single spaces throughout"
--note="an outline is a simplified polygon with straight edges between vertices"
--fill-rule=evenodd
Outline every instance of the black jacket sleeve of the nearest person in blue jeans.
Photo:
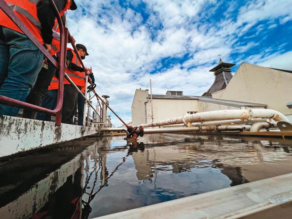
M 66 6 L 66 0 L 54 0 L 58 11 L 62 11 Z M 51 44 L 53 40 L 53 27 L 55 24 L 55 13 L 50 6 L 48 0 L 40 0 L 36 6 L 37 17 L 42 25 L 41 33 L 43 35 L 43 41 L 47 44 Z

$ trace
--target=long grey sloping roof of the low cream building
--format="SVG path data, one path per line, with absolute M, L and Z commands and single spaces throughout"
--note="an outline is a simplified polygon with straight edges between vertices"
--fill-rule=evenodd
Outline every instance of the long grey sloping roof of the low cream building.
M 152 99 L 193 99 L 198 100 L 201 102 L 206 103 L 215 103 L 219 105 L 225 105 L 225 106 L 233 106 L 233 107 L 267 107 L 266 104 L 261 103 L 247 103 L 247 102 L 241 102 L 241 101 L 233 101 L 233 100 L 223 100 L 223 99 L 214 99 L 207 96 L 174 96 L 174 95 L 161 95 L 161 94 L 152 94 Z

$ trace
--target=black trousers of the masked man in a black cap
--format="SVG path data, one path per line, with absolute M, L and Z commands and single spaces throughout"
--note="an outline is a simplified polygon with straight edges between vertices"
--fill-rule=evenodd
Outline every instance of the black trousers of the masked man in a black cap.
M 80 89 L 80 86 L 77 86 Z M 64 100 L 61 123 L 73 124 L 77 110 L 78 91 L 72 85 L 64 85 Z

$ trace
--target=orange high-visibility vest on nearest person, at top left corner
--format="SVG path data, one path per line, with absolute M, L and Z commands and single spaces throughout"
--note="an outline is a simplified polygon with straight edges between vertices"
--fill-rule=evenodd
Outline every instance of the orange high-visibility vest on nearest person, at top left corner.
M 40 30 L 42 29 L 40 20 L 37 17 L 36 5 L 40 0 L 4 0 L 19 19 L 25 24 L 30 32 L 43 44 Z M 0 25 L 23 33 L 15 23 L 0 10 Z

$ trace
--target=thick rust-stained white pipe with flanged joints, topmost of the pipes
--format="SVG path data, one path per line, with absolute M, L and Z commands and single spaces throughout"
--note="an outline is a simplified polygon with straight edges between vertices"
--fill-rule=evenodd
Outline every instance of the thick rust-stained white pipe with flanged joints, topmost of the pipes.
M 165 126 L 171 124 L 181 123 L 193 123 L 203 121 L 217 121 L 217 120 L 234 120 L 240 119 L 242 121 L 249 121 L 252 118 L 270 118 L 275 121 L 289 121 L 286 116 L 282 113 L 277 112 L 273 109 L 250 109 L 244 107 L 242 109 L 227 109 L 227 110 L 216 110 L 202 113 L 188 114 L 183 116 L 161 120 L 158 122 L 141 124 L 143 127 L 154 127 L 154 126 Z

